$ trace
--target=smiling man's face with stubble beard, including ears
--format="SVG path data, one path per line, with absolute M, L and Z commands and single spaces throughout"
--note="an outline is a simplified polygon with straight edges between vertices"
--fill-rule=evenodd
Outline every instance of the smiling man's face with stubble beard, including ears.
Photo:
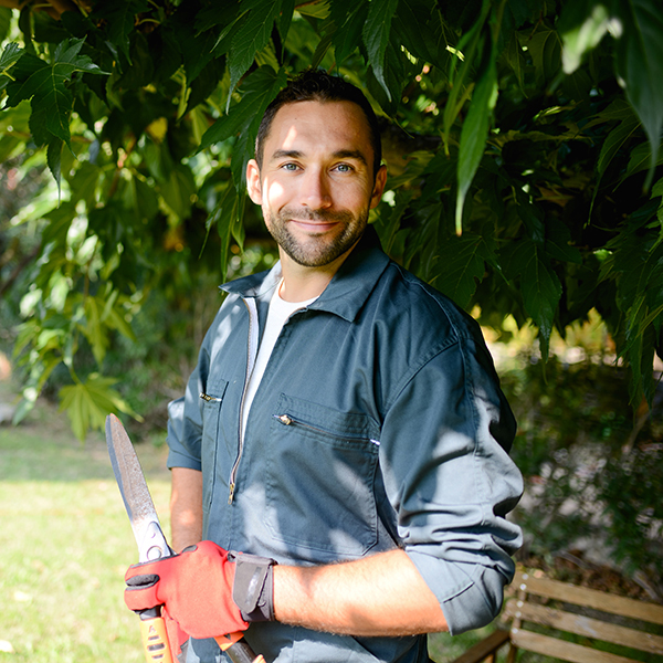
M 368 122 L 351 102 L 298 102 L 276 113 L 262 171 L 250 161 L 246 180 L 282 260 L 323 267 L 352 249 L 385 188 L 386 169 L 373 181 L 372 160 Z

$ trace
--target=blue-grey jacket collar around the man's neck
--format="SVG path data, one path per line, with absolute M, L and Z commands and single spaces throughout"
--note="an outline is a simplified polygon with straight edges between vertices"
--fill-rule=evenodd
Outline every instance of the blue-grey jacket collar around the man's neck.
M 352 322 L 388 264 L 389 257 L 380 248 L 377 232 L 368 225 L 357 246 L 308 309 L 327 311 Z M 263 298 L 271 295 L 280 280 L 281 262 L 269 272 L 244 276 L 220 287 L 241 297 Z

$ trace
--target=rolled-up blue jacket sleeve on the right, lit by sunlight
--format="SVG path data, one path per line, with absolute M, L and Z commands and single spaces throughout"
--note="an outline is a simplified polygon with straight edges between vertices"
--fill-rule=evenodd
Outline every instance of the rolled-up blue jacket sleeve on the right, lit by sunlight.
M 498 614 L 522 545 L 519 527 L 505 518 L 523 492 L 508 456 L 515 420 L 478 343 L 460 338 L 414 367 L 381 434 L 399 535 L 452 634 Z

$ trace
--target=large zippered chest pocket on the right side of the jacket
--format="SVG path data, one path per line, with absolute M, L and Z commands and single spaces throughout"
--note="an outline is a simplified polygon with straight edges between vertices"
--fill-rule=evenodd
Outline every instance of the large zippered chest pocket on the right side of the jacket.
M 376 545 L 378 427 L 282 394 L 270 429 L 265 525 L 292 552 L 359 557 Z

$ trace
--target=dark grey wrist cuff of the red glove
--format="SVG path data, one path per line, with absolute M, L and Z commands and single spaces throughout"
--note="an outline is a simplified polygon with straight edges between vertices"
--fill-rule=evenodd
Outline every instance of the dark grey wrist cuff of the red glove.
M 235 562 L 232 600 L 246 622 L 274 621 L 274 575 L 276 564 L 269 557 L 229 552 Z

